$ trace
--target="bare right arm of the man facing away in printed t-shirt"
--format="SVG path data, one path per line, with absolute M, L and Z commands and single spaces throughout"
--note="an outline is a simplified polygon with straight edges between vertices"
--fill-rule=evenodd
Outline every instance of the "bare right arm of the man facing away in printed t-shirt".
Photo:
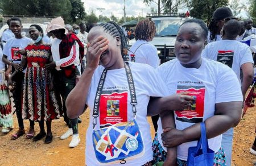
M 247 89 L 251 85 L 253 81 L 253 64 L 252 63 L 245 63 L 241 65 L 241 69 L 243 72 L 243 82 L 242 82 L 242 94 L 243 100 L 245 100 L 245 94 Z

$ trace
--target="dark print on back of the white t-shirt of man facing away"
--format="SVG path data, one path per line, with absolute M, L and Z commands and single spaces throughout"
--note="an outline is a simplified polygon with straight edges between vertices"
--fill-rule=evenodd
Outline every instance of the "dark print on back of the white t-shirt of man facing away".
M 218 51 L 217 61 L 228 65 L 228 67 L 232 68 L 233 64 L 233 57 L 234 57 L 234 51 L 228 50 L 228 51 Z

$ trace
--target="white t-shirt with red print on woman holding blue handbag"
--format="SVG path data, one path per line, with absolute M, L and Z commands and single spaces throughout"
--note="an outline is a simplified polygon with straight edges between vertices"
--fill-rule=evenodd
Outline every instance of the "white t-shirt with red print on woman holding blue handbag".
M 174 59 L 160 65 L 156 72 L 166 82 L 170 94 L 188 92 L 196 99 L 190 110 L 175 111 L 175 124 L 178 130 L 212 117 L 216 103 L 242 101 L 236 74 L 226 65 L 216 61 L 202 58 L 201 67 L 196 69 L 184 68 L 177 59 Z M 158 139 L 163 147 L 160 120 L 158 125 Z M 221 135 L 208 139 L 208 142 L 209 148 L 217 152 L 221 146 Z M 193 141 L 177 146 L 177 158 L 187 160 L 188 148 L 196 145 L 197 141 Z

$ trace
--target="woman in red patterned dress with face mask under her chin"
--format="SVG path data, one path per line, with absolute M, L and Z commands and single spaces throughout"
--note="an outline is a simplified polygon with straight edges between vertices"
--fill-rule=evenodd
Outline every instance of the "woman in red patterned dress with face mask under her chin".
M 52 119 L 58 119 L 61 115 L 60 96 L 53 90 L 50 71 L 44 68 L 52 60 L 51 45 L 43 42 L 43 30 L 40 26 L 32 24 L 29 33 L 34 43 L 28 44 L 22 51 L 21 65 L 27 67 L 23 83 L 22 117 L 39 122 L 40 132 L 32 139 L 33 141 L 46 136 L 44 143 L 51 143 Z M 44 121 L 47 133 L 44 130 Z

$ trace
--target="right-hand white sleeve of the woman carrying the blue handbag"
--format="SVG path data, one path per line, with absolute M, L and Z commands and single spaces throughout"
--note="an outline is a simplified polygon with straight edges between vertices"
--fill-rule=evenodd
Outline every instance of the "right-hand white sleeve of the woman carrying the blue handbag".
M 221 64 L 217 76 L 216 103 L 243 101 L 242 90 L 233 70 Z

